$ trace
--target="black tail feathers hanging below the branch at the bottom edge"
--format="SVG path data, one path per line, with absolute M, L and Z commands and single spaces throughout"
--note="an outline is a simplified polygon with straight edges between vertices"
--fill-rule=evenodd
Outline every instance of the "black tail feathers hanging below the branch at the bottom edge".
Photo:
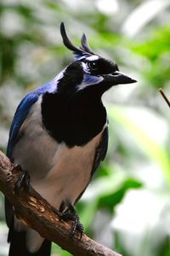
M 28 252 L 26 248 L 26 231 L 9 231 L 10 247 L 8 256 L 50 256 L 51 241 L 44 240 L 36 253 Z

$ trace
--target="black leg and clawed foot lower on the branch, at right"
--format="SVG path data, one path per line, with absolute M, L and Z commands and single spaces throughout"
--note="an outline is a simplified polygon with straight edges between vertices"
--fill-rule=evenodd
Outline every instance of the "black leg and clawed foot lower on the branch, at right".
M 65 221 L 71 220 L 73 222 L 71 227 L 71 236 L 74 236 L 76 231 L 78 231 L 80 233 L 80 239 L 82 239 L 84 229 L 82 224 L 80 223 L 80 219 L 77 215 L 77 212 L 75 211 L 75 208 L 68 201 L 65 202 L 65 206 L 67 207 L 67 210 L 61 213 L 60 219 Z

